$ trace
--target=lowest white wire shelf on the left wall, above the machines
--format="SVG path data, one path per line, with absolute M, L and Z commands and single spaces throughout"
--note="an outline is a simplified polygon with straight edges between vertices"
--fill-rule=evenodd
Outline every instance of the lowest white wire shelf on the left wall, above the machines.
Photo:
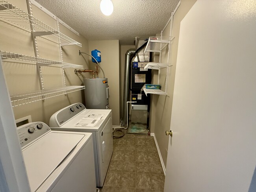
M 66 86 L 66 87 L 57 87 L 53 89 L 45 89 L 32 91 L 21 94 L 10 95 L 11 104 L 13 107 L 24 105 L 26 103 L 32 103 L 40 100 L 45 100 L 55 96 L 71 93 L 74 91 L 85 89 L 85 86 Z

